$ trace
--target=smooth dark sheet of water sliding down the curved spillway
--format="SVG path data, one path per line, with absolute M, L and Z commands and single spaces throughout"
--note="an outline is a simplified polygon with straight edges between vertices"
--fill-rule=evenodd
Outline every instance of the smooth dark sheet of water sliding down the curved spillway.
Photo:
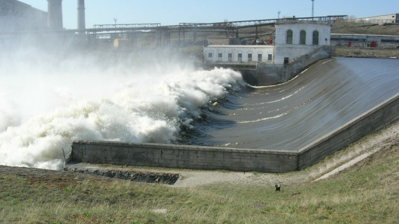
M 398 94 L 398 68 L 387 59 L 319 61 L 288 83 L 230 95 L 193 144 L 299 150 Z

